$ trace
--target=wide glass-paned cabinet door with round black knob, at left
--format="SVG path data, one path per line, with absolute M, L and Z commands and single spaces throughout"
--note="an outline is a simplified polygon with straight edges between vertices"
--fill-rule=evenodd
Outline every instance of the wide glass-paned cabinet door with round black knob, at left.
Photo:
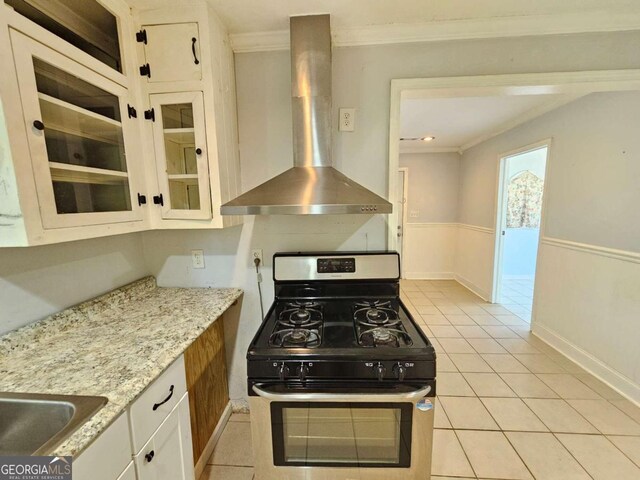
M 19 32 L 11 41 L 43 227 L 141 220 L 127 90 Z

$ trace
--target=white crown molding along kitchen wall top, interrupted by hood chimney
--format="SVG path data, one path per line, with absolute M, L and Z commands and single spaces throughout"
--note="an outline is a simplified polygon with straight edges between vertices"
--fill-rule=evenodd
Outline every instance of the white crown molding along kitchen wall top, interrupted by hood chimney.
M 351 47 L 626 30 L 640 30 L 640 12 L 581 12 L 560 15 L 529 15 L 443 22 L 335 27 L 332 29 L 332 38 L 333 45 L 336 47 Z M 236 53 L 289 49 L 288 30 L 235 33 L 231 34 L 230 37 L 233 51 Z

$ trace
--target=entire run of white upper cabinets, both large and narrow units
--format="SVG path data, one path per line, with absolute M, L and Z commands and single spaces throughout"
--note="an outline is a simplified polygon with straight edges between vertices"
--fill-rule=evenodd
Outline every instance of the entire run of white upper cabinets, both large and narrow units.
M 233 51 L 204 0 L 4 0 L 0 64 L 0 247 L 241 223 L 220 215 Z

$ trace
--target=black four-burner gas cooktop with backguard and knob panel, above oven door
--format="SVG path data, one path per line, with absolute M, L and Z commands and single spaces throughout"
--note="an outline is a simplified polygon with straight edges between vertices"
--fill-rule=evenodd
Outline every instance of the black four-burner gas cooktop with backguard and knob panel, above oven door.
M 395 252 L 274 255 L 275 301 L 247 352 L 249 395 L 255 385 L 402 383 L 435 395 L 435 350 L 400 300 L 399 265 Z

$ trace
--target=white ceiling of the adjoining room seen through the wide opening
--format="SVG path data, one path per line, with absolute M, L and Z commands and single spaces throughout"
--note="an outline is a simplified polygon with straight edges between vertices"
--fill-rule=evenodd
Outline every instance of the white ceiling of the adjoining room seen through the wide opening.
M 557 108 L 566 94 L 402 100 L 401 137 L 434 136 L 431 142 L 403 141 L 401 151 L 458 151 Z

